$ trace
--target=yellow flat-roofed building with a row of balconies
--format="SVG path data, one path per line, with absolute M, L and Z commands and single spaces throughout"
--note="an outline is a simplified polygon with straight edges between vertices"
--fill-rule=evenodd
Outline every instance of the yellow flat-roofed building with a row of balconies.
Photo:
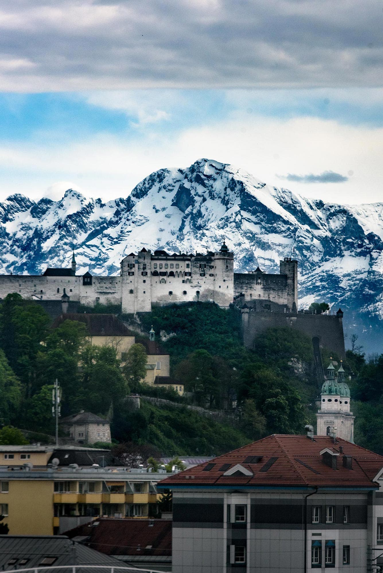
M 2 459 L 14 455 L 0 466 L 0 510 L 11 535 L 58 534 L 98 516 L 148 517 L 159 499 L 157 483 L 169 475 L 165 469 L 61 466 L 52 458 L 57 452 L 52 446 L 46 452 L 29 451 L 33 446 L 0 448 Z M 25 458 L 19 456 L 28 453 L 21 464 Z

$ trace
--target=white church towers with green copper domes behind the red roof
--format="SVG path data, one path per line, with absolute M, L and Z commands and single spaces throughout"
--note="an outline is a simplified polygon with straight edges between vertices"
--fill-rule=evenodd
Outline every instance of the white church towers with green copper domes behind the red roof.
M 354 419 L 350 412 L 350 388 L 345 382 L 342 360 L 338 372 L 333 362 L 327 368 L 321 392 L 321 410 L 316 414 L 316 435 L 335 435 L 354 443 Z

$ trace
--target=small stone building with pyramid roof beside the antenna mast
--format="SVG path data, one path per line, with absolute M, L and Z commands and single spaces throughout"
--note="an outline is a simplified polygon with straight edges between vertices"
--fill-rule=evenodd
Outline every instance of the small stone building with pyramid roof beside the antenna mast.
M 78 444 L 111 442 L 110 423 L 96 414 L 81 410 L 67 418 L 62 418 L 60 427 Z

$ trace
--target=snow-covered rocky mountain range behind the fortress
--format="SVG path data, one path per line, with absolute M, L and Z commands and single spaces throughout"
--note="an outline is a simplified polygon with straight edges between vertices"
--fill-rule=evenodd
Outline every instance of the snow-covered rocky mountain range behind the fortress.
M 357 332 L 366 351 L 383 350 L 383 203 L 306 199 L 200 159 L 156 171 L 127 198 L 107 203 L 73 189 L 61 201 L 11 195 L 0 203 L 0 233 L 3 274 L 69 266 L 72 248 L 77 272 L 92 274 L 118 274 L 120 260 L 143 246 L 201 252 L 225 239 L 241 272 L 257 265 L 279 272 L 280 258 L 294 256 L 301 307 L 314 300 L 341 306 L 346 332 Z

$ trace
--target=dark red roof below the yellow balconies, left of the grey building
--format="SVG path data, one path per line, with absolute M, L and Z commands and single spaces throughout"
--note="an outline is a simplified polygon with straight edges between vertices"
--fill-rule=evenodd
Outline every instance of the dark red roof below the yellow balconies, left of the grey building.
M 88 536 L 84 543 L 107 555 L 171 555 L 171 523 L 167 519 L 97 519 L 65 535 Z

